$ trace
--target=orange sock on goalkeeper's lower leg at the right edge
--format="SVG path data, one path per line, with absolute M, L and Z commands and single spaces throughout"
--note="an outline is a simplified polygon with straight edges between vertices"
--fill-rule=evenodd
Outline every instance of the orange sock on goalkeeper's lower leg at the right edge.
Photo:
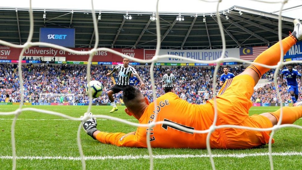
M 282 107 L 282 109 L 283 115 L 281 124 L 292 124 L 302 117 L 302 106 Z M 277 121 L 279 121 L 281 109 L 269 113 L 276 117 Z

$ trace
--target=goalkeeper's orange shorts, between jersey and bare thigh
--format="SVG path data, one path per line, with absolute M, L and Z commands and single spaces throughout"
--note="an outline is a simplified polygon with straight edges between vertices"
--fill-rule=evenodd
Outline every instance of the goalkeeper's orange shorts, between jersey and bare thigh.
M 238 75 L 228 79 L 217 95 L 217 124 L 239 125 L 246 127 L 269 128 L 271 121 L 264 116 L 249 116 L 252 106 L 250 100 L 254 91 L 255 81 L 250 75 Z M 214 106 L 214 100 L 210 103 Z M 263 131 L 246 130 L 239 128 L 219 129 L 222 137 L 222 148 L 252 148 L 268 143 L 269 133 Z M 274 142 L 274 141 L 273 141 Z

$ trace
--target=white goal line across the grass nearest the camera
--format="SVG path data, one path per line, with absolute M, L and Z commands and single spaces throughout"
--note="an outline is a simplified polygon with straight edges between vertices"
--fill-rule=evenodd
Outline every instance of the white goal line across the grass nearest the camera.
M 256 156 L 268 156 L 265 153 L 241 153 L 241 154 L 217 154 L 213 157 L 219 158 L 245 158 L 245 157 L 256 157 Z M 302 152 L 280 152 L 272 153 L 272 156 L 302 156 Z M 155 159 L 170 159 L 170 158 L 207 158 L 206 154 L 203 155 L 154 155 Z M 0 156 L 0 159 L 13 159 L 12 156 Z M 59 159 L 59 160 L 81 160 L 80 157 L 65 157 L 65 156 L 16 156 L 16 159 L 28 159 L 28 160 L 44 160 L 44 159 Z M 110 160 L 110 159 L 149 159 L 149 155 L 127 155 L 127 156 L 85 156 L 85 160 Z

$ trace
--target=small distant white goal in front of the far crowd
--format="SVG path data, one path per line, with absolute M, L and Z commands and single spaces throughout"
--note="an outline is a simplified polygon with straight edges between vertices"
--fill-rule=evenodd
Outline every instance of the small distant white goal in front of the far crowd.
M 74 105 L 75 94 L 40 93 L 39 105 Z

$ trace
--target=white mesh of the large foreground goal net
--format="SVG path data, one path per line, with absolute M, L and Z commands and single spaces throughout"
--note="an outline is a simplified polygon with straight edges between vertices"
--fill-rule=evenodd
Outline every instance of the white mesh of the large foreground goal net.
M 256 1 L 256 0 L 255 0 Z M 207 1 L 204 1 L 204 2 L 207 2 Z M 217 3 L 217 14 L 218 14 L 218 7 L 219 7 L 219 4 L 220 4 L 221 1 L 215 1 L 213 3 L 213 5 L 215 3 Z M 257 2 L 266 2 L 266 1 L 257 1 Z M 31 2 L 30 2 L 31 3 Z M 267 2 L 267 3 L 280 3 L 280 9 L 282 10 L 283 9 L 283 5 L 285 3 L 287 3 L 287 1 L 283 1 L 283 2 Z M 31 42 L 32 41 L 32 36 L 33 36 L 33 25 L 34 25 L 34 22 L 33 22 L 33 14 L 32 14 L 32 11 L 29 12 L 29 16 L 30 16 L 30 24 L 31 24 L 31 27 L 30 27 L 30 33 L 29 33 L 29 36 L 28 36 L 28 39 L 27 39 L 27 42 L 24 44 L 24 45 L 15 45 L 15 44 L 12 44 L 12 43 L 8 43 L 8 42 L 5 42 L 5 41 L 2 41 L 0 40 L 0 43 L 3 44 L 3 45 L 6 45 L 6 46 L 9 46 L 9 47 L 15 47 L 15 48 L 21 48 L 22 49 L 22 52 L 19 56 L 19 63 L 18 63 L 18 66 L 19 66 L 19 79 L 20 79 L 20 87 L 21 87 L 21 103 L 24 102 L 24 90 L 23 90 L 23 79 L 22 79 L 22 69 L 21 69 L 21 60 L 22 60 L 22 56 L 23 56 L 23 53 L 24 53 L 24 50 L 28 49 L 29 47 L 32 47 L 32 46 L 44 46 L 44 47 L 52 47 L 52 48 L 56 48 L 56 49 L 59 49 L 59 50 L 64 50 L 64 51 L 67 51 L 67 52 L 70 52 L 70 53 L 75 53 L 75 54 L 89 54 L 89 59 L 88 59 L 88 65 L 87 65 L 87 82 L 90 81 L 90 75 L 91 75 L 91 72 L 90 72 L 90 68 L 91 68 L 91 62 L 92 62 L 92 58 L 93 56 L 95 55 L 96 52 L 98 51 L 108 51 L 110 53 L 114 53 L 114 54 L 117 54 L 117 55 L 120 55 L 122 57 L 125 57 L 125 58 L 130 58 L 129 56 L 127 55 L 124 55 L 122 53 L 118 53 L 117 51 L 114 51 L 114 50 L 111 50 L 111 49 L 108 49 L 108 48 L 97 48 L 98 47 L 98 40 L 99 40 L 99 34 L 98 34 L 98 26 L 97 26 L 97 18 L 96 18 L 96 15 L 95 15 L 95 11 L 93 9 L 94 5 L 93 5 L 93 1 L 91 2 L 91 5 L 92 5 L 92 18 L 93 18 L 93 21 L 94 21 L 94 31 L 95 31 L 95 46 L 92 50 L 90 51 L 75 51 L 75 50 L 71 50 L 71 49 L 68 49 L 68 48 L 65 48 L 65 47 L 61 47 L 61 46 L 57 46 L 57 45 L 53 45 L 53 44 L 49 44 L 49 43 L 33 43 Z M 158 9 L 158 3 L 157 3 L 157 7 L 156 9 Z M 136 62 L 139 62 L 139 63 L 152 63 L 151 64 L 151 67 L 150 67 L 150 73 L 151 73 L 151 80 L 152 80 L 152 87 L 154 87 L 154 75 L 153 75 L 153 67 L 154 67 L 154 63 L 158 60 L 158 59 L 161 59 L 161 58 L 167 58 L 167 57 L 174 57 L 174 58 L 177 58 L 177 59 L 182 59 L 180 56 L 171 56 L 171 55 L 162 55 L 162 56 L 159 56 L 159 50 L 160 50 L 160 43 L 161 43 L 161 34 L 160 34 L 160 25 L 159 25 L 159 14 L 156 13 L 156 33 L 157 33 L 157 48 L 156 48 L 156 53 L 155 53 L 155 56 L 153 57 L 153 59 L 150 59 L 150 60 L 142 60 L 142 59 L 135 59 L 135 58 L 131 58 L 133 61 L 136 61 Z M 282 39 L 281 38 L 281 13 L 279 15 L 279 25 L 278 25 L 278 33 L 279 33 L 279 41 Z M 225 42 L 225 36 L 224 36 L 224 31 L 223 31 L 223 27 L 222 27 L 222 24 L 221 24 L 221 20 L 220 20 L 220 15 L 218 14 L 217 15 L 217 22 L 219 24 L 219 28 L 220 28 L 220 33 L 221 33 L 221 41 L 223 43 L 223 51 L 222 51 L 222 54 L 225 53 L 225 49 L 226 49 L 226 42 Z M 281 48 L 282 49 L 282 48 Z M 281 54 L 280 54 L 280 62 L 278 63 L 277 66 L 265 66 L 265 65 L 262 65 L 262 64 L 259 64 L 261 66 L 264 66 L 264 67 L 267 67 L 267 68 L 275 68 L 276 71 L 275 71 L 275 87 L 276 87 L 276 91 L 278 92 L 278 98 L 281 99 L 281 95 L 278 91 L 278 86 L 277 86 L 277 74 L 278 74 L 278 70 L 280 68 L 282 68 L 282 66 L 284 66 L 285 64 L 288 64 L 288 63 L 294 63 L 294 61 L 291 61 L 291 62 L 283 62 L 283 55 L 282 55 L 283 51 L 281 50 Z M 238 59 L 238 58 L 232 58 L 232 57 L 229 57 L 229 58 L 224 58 L 224 56 L 222 55 L 219 59 L 217 60 L 213 60 L 213 61 L 200 61 L 200 60 L 194 60 L 194 59 L 188 59 L 189 61 L 191 61 L 192 63 L 217 63 L 217 66 L 215 68 L 215 71 L 214 71 L 214 77 L 216 77 L 217 75 L 217 72 L 218 72 L 218 68 L 219 68 L 219 64 L 220 63 L 223 63 L 225 61 L 238 61 L 238 62 L 245 62 L 245 63 L 252 63 L 250 61 L 245 61 L 245 60 L 242 60 L 242 59 Z M 297 62 L 295 62 L 297 63 Z M 299 62 L 301 63 L 301 62 Z M 216 79 L 213 79 L 213 91 L 216 91 Z M 283 128 L 283 127 L 296 127 L 296 128 L 300 128 L 302 129 L 302 127 L 300 126 L 297 126 L 297 125 L 289 125 L 289 124 L 286 124 L 286 125 L 281 125 L 281 120 L 282 120 L 282 113 L 281 113 L 281 117 L 280 117 L 280 120 L 278 122 L 278 124 L 272 128 L 268 128 L 268 129 L 258 129 L 258 128 L 251 128 L 251 127 L 241 127 L 241 126 L 236 126 L 236 125 L 220 125 L 220 126 L 216 126 L 216 122 L 217 122 L 217 104 L 216 104 L 216 97 L 215 97 L 215 93 L 214 94 L 214 105 L 215 105 L 215 109 L 214 109 L 214 112 L 215 112 L 215 118 L 214 118 L 214 122 L 213 122 L 213 125 L 210 127 L 210 129 L 208 130 L 204 130 L 204 131 L 198 131 L 198 130 L 190 130 L 190 129 L 186 129 L 184 127 L 181 127 L 177 124 L 173 124 L 173 123 L 167 123 L 165 122 L 165 124 L 168 124 L 168 125 L 173 125 L 174 127 L 177 127 L 181 130 L 186 130 L 188 132 L 193 132 L 194 133 L 208 133 L 207 135 L 207 151 L 208 151 L 208 155 L 209 155 L 209 158 L 210 158 L 210 162 L 211 162 L 211 166 L 213 169 L 215 169 L 215 165 L 214 165 L 214 160 L 213 160 L 213 155 L 212 155 L 212 150 L 210 148 L 210 135 L 211 133 L 216 130 L 216 129 L 220 129 L 220 128 L 226 128 L 226 127 L 233 127 L 233 128 L 242 128 L 242 129 L 248 129 L 248 130 L 256 130 L 256 131 L 269 131 L 269 130 L 272 130 L 272 133 L 271 133 L 271 138 L 269 140 L 269 144 L 268 144 L 268 155 L 269 155 L 269 160 L 270 160 L 270 165 L 271 165 L 271 169 L 274 169 L 274 166 L 273 166 L 273 159 L 272 159 L 272 147 L 271 147 L 271 142 L 272 142 L 272 137 L 274 136 L 275 134 L 275 131 L 280 129 L 280 128 Z M 155 91 L 155 88 L 153 88 L 153 100 L 156 101 L 156 91 Z M 41 102 L 41 101 L 40 101 Z M 281 106 L 282 106 L 282 100 L 280 100 L 281 102 Z M 156 102 L 154 102 L 156 103 Z M 87 112 L 89 113 L 91 111 L 91 106 L 92 106 L 92 98 L 90 97 L 90 103 L 89 103 L 89 106 L 88 106 L 88 109 L 87 109 Z M 156 107 L 156 106 L 155 106 Z M 79 147 L 79 152 L 80 152 L 80 155 L 81 155 L 81 161 L 82 161 L 82 169 L 86 169 L 86 165 L 85 165 L 85 157 L 84 157 L 84 154 L 83 154 L 83 151 L 82 151 L 82 145 L 81 145 L 81 140 L 80 140 L 80 131 L 81 131 L 81 128 L 82 128 L 82 123 L 83 121 L 87 120 L 89 117 L 83 117 L 82 119 L 81 118 L 78 118 L 78 117 L 70 117 L 70 116 L 67 116 L 65 114 L 61 114 L 61 113 L 58 113 L 58 112 L 53 112 L 53 111 L 47 111 L 47 110 L 41 110 L 41 109 L 36 109 L 36 108 L 31 108 L 31 107 L 27 107 L 27 108 L 22 108 L 22 104 L 20 104 L 19 108 L 15 111 L 12 111 L 12 112 L 1 112 L 0 115 L 14 115 L 14 120 L 12 122 L 12 125 L 11 125 L 11 145 L 12 145 L 12 159 L 13 159 L 13 166 L 12 166 L 12 169 L 16 169 L 17 167 L 17 164 L 16 164 L 16 144 L 15 144 L 15 124 L 16 124 L 16 121 L 17 121 L 17 118 L 20 114 L 22 114 L 22 112 L 24 111 L 34 111 L 34 112 L 40 112 L 40 113 L 44 113 L 44 114 L 52 114 L 52 115 L 56 115 L 56 116 L 59 116 L 59 117 L 63 117 L 63 118 L 66 118 L 66 119 L 70 119 L 70 120 L 77 120 L 77 121 L 81 121 L 81 123 L 79 124 L 79 127 L 78 127 L 78 132 L 77 132 L 77 144 L 78 144 L 78 147 Z M 127 120 L 122 120 L 120 118 L 116 118 L 116 117 L 111 117 L 111 116 L 105 116 L 105 115 L 94 115 L 94 117 L 96 118 L 104 118 L 104 119 L 111 119 L 111 120 L 116 120 L 116 121 L 119 121 L 119 122 L 122 122 L 122 123 L 127 123 L 129 125 L 132 125 L 132 126 L 136 126 L 136 127 L 148 127 L 149 129 L 151 129 L 152 127 L 154 127 L 156 124 L 162 124 L 164 123 L 163 121 L 153 121 L 152 123 L 150 124 L 138 124 L 138 123 L 132 123 L 130 121 L 127 121 Z M 156 120 L 156 118 L 154 119 Z M 149 139 L 149 136 L 150 136 L 150 132 L 148 133 L 148 136 L 146 139 Z M 150 158 L 150 169 L 153 169 L 153 152 L 152 152 L 152 149 L 151 149 L 151 145 L 150 145 L 150 141 L 147 140 L 147 146 L 148 146 L 148 152 L 149 152 L 149 158 Z

